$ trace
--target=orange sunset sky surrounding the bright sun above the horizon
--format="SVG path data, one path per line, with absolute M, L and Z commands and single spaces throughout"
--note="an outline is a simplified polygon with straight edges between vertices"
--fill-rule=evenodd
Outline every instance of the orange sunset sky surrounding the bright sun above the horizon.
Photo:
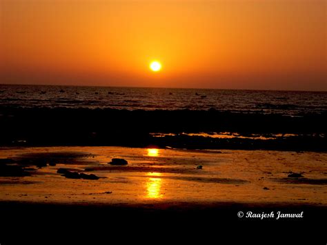
M 325 0 L 0 0 L 0 84 L 326 91 L 326 25 Z

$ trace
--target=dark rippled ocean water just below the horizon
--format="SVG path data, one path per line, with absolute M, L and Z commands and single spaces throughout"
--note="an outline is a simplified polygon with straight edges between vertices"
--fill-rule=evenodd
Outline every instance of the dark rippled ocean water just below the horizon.
M 0 85 L 0 106 L 301 115 L 327 112 L 327 92 Z

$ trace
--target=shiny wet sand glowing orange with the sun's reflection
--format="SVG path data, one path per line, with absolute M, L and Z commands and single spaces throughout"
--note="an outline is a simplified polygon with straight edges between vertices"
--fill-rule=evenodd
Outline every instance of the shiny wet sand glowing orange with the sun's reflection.
M 128 165 L 108 164 L 114 157 L 126 159 Z M 327 206 L 327 153 L 45 147 L 1 148 L 0 158 L 12 159 L 30 173 L 0 177 L 1 202 Z M 40 167 L 41 161 L 47 166 Z M 68 179 L 57 173 L 59 168 L 100 178 Z M 290 173 L 303 177 L 288 177 Z

